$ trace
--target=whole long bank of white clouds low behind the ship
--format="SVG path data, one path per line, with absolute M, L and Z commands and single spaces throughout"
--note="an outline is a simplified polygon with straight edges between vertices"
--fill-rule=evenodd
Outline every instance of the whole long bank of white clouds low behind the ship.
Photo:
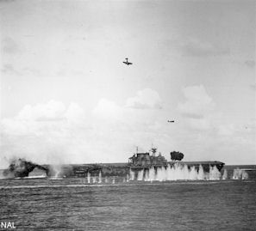
M 253 153 L 255 121 L 247 129 L 225 124 L 203 85 L 188 86 L 183 93 L 181 117 L 172 125 L 166 123 L 164 110 L 138 110 L 106 98 L 91 111 L 57 100 L 24 106 L 15 117 L 1 120 L 0 164 L 13 155 L 41 164 L 123 162 L 135 146 L 146 151 L 152 143 L 168 160 L 173 149 L 190 161 L 212 160 L 207 152 L 212 147 L 229 153 L 232 147 L 248 147 Z M 225 161 L 222 149 L 214 159 Z

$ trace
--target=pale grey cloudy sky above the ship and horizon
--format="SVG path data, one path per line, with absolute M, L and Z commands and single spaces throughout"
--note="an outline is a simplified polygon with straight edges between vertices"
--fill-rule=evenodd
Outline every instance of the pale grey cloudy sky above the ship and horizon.
M 255 9 L 1 1 L 0 167 L 125 162 L 152 146 L 256 164 Z

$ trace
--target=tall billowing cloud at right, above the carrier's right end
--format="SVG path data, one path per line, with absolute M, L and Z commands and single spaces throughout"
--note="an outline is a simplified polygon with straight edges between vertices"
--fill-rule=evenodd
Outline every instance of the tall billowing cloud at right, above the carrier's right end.
M 215 102 L 203 85 L 188 86 L 183 88 L 183 93 L 185 100 L 178 104 L 182 116 L 178 134 L 186 137 L 182 149 L 189 149 L 196 156 L 200 153 L 201 160 L 220 160 L 230 164 L 237 162 L 234 158 L 248 163 L 240 158 L 240 153 L 246 149 L 247 161 L 253 161 L 255 123 L 234 123 L 222 112 L 216 112 Z

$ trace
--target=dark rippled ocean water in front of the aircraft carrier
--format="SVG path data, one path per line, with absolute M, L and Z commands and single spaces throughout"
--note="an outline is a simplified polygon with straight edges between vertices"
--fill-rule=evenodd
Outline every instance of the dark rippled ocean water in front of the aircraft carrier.
M 256 166 L 225 168 L 225 179 L 212 180 L 0 179 L 0 222 L 16 230 L 256 230 Z

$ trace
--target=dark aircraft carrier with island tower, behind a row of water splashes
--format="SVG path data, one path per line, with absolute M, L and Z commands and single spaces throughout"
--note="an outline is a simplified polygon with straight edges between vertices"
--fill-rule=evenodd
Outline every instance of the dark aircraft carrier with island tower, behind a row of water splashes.
M 225 164 L 221 161 L 167 161 L 160 153 L 157 155 L 157 149 L 153 148 L 149 152 L 134 153 L 128 158 L 128 162 L 64 165 L 61 167 L 60 176 L 84 178 L 88 175 L 98 176 L 101 174 L 102 177 L 126 177 L 131 172 L 137 176 L 141 170 L 149 171 L 149 169 L 154 168 L 157 171 L 161 167 L 167 168 L 177 165 L 188 167 L 188 169 L 194 167 L 197 171 L 203 167 L 203 171 L 207 173 L 211 167 L 216 167 L 221 172 Z

